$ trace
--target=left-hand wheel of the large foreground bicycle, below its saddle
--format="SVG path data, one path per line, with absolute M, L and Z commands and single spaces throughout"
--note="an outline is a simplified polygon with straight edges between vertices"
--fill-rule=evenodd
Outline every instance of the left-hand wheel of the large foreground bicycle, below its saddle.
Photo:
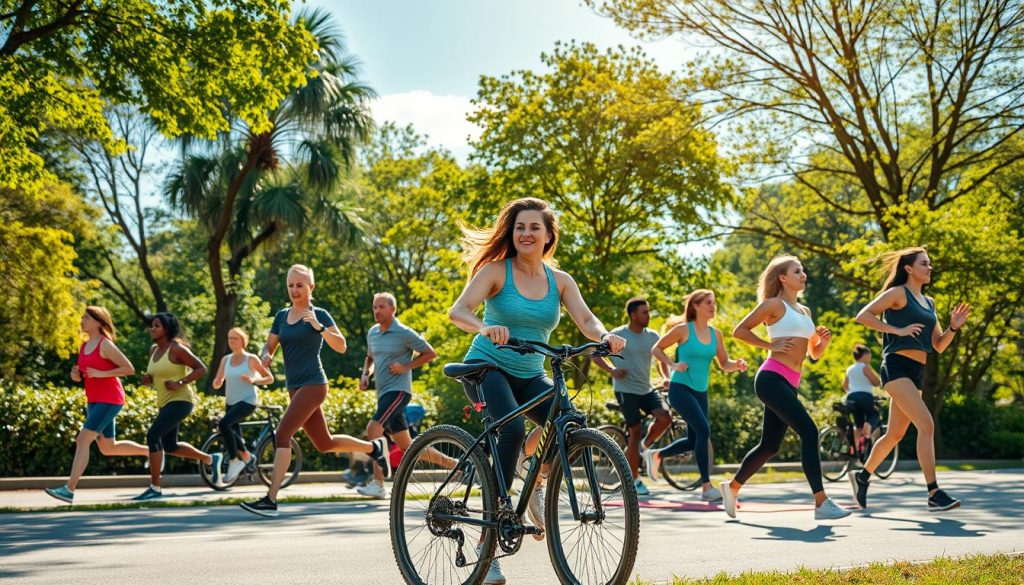
M 390 529 L 391 549 L 406 583 L 478 585 L 486 577 L 496 531 L 434 516 L 495 519 L 495 474 L 482 450 L 470 455 L 459 476 L 444 483 L 473 442 L 457 426 L 439 425 L 417 436 L 401 458 L 391 490 Z

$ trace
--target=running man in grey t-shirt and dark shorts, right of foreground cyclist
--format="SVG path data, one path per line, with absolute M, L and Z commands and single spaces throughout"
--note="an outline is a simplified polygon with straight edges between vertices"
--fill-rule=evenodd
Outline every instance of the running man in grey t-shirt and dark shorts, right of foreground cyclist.
M 630 430 L 626 443 L 626 458 L 630 462 L 630 470 L 633 471 L 637 495 L 649 496 L 650 491 L 644 486 L 638 472 L 640 453 L 646 453 L 648 447 L 654 445 L 665 429 L 669 428 L 672 424 L 672 415 L 669 414 L 662 393 L 652 388 L 650 383 L 650 351 L 657 343 L 658 336 L 657 333 L 647 329 L 650 324 L 650 305 L 647 304 L 647 299 L 633 297 L 626 301 L 626 316 L 630 322 L 611 330 L 612 334 L 626 339 L 623 357 L 610 358 L 613 367 L 608 365 L 604 358 L 594 358 L 593 362 L 598 368 L 611 374 L 611 389 L 615 392 L 618 410 L 622 411 L 623 420 Z M 668 378 L 668 368 L 660 362 L 658 366 L 662 376 Z M 646 416 L 653 417 L 654 422 L 647 427 L 647 434 L 641 437 L 643 420 Z M 656 478 L 656 475 L 651 477 Z

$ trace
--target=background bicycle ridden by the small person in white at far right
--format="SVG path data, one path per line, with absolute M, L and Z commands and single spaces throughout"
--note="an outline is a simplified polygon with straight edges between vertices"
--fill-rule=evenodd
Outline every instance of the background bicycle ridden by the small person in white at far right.
M 879 413 L 882 415 L 885 414 L 885 410 L 882 408 L 885 401 L 883 398 L 874 396 L 874 406 L 879 407 Z M 839 482 L 850 471 L 851 463 L 862 467 L 870 450 L 869 448 L 861 449 L 854 441 L 853 410 L 847 406 L 846 402 L 834 403 L 833 410 L 839 413 L 836 416 L 836 424 L 821 429 L 818 433 L 818 452 L 821 457 L 821 474 L 829 482 Z M 888 425 L 883 418 L 879 427 L 872 429 L 871 436 L 885 434 Z M 889 477 L 896 469 L 898 460 L 899 449 L 893 449 L 874 470 L 874 474 L 880 479 Z

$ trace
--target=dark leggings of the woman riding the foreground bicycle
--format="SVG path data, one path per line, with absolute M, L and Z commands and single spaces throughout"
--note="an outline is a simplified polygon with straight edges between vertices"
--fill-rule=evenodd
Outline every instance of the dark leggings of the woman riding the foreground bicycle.
M 467 363 L 479 363 L 482 360 L 469 360 Z M 487 404 L 487 412 L 498 420 L 536 396 L 543 394 L 555 386 L 551 378 L 536 376 L 534 378 L 517 378 L 501 370 L 487 372 L 480 384 L 482 400 Z M 466 395 L 474 399 L 475 386 L 465 387 Z M 544 424 L 551 411 L 553 399 L 548 399 L 536 408 L 526 412 L 526 416 L 537 424 Z M 475 402 L 475 401 L 474 401 Z M 526 423 L 522 417 L 516 418 L 498 431 L 498 461 L 501 463 L 502 475 L 505 477 L 505 489 L 512 488 L 515 477 L 515 464 L 519 459 L 519 451 L 526 437 Z

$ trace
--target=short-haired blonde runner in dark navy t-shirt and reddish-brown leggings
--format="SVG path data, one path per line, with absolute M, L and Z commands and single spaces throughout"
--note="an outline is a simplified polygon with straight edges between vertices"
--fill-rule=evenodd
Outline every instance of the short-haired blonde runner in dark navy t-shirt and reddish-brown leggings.
M 285 351 L 285 381 L 291 402 L 281 417 L 273 453 L 273 478 L 266 496 L 255 502 L 239 504 L 242 509 L 261 516 L 278 515 L 278 491 L 292 462 L 292 436 L 303 428 L 309 441 L 321 453 L 368 453 L 385 474 L 391 473 L 387 440 L 361 441 L 348 434 L 331 434 L 321 405 L 327 400 L 328 384 L 319 353 L 324 342 L 338 353 L 344 353 L 345 336 L 334 324 L 328 311 L 313 306 L 313 271 L 295 264 L 288 268 L 286 279 L 290 308 L 283 308 L 273 318 L 270 334 L 263 346 L 263 367 L 270 366 L 273 352 L 281 345 Z

